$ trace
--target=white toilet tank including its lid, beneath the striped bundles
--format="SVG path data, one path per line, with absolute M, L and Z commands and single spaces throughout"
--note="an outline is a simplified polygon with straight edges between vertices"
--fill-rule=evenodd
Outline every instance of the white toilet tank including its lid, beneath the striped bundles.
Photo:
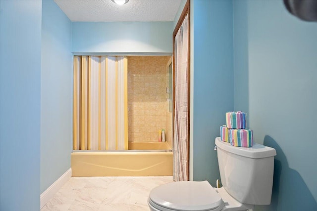
M 225 190 L 244 204 L 269 205 L 271 202 L 275 149 L 261 144 L 235 147 L 215 139 L 221 183 Z

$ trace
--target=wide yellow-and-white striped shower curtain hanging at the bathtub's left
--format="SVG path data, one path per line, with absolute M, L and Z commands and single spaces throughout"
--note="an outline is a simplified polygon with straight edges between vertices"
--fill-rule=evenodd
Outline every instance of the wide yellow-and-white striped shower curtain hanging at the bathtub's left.
M 127 150 L 127 57 L 74 56 L 73 149 Z

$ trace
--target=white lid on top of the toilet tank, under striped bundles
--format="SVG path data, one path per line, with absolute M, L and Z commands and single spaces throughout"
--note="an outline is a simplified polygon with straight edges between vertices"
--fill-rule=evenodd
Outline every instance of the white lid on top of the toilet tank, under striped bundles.
M 216 144 L 217 148 L 247 158 L 268 158 L 276 155 L 274 148 L 257 143 L 255 143 L 252 147 L 236 147 L 232 146 L 228 142 L 221 141 L 220 137 L 216 137 L 214 143 Z

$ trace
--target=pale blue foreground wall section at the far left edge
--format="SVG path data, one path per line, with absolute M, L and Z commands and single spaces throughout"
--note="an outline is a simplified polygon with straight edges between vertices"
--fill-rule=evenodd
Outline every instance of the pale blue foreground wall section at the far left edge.
M 0 1 L 0 210 L 40 207 L 41 1 Z

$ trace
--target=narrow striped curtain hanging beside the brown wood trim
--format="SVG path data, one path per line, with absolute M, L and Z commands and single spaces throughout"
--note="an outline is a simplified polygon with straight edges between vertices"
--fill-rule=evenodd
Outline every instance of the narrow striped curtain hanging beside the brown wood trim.
M 173 141 L 173 179 L 186 181 L 188 158 L 188 15 L 179 28 L 174 43 L 175 110 Z

